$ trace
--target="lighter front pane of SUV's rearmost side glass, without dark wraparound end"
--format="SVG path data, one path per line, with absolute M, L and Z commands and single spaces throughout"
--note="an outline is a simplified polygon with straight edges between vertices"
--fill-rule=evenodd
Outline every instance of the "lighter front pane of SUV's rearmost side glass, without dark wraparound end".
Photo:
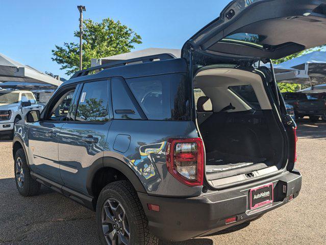
M 170 75 L 126 81 L 148 119 L 170 120 Z

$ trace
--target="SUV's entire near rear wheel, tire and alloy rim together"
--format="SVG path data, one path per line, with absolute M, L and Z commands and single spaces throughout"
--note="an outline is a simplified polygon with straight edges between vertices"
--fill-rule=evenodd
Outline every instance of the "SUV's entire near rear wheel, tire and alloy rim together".
M 103 245 L 112 244 L 112 240 L 116 240 L 113 244 L 159 243 L 158 238 L 149 232 L 143 207 L 128 181 L 116 181 L 103 188 L 96 204 L 96 226 Z

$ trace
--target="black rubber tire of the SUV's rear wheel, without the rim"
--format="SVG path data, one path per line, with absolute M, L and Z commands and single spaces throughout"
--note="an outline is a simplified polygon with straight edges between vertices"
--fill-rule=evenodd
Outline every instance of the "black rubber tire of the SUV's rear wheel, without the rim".
M 99 194 L 96 204 L 96 226 L 103 245 L 107 245 L 104 236 L 102 215 L 107 200 L 117 200 L 126 211 L 130 227 L 130 245 L 157 245 L 159 240 L 148 229 L 148 220 L 138 198 L 137 192 L 129 181 L 116 181 L 108 184 Z

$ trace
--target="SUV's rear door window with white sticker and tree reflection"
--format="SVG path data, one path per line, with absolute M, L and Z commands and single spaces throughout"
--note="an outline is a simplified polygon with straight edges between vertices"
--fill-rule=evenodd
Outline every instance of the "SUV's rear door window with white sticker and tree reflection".
M 79 98 L 76 121 L 108 121 L 108 81 L 85 83 Z

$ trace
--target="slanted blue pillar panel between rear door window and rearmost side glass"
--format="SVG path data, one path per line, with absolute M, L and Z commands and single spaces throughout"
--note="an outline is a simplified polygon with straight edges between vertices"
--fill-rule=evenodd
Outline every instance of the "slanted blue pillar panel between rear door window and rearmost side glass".
M 115 119 L 141 119 L 127 84 L 122 78 L 111 79 L 113 114 Z

